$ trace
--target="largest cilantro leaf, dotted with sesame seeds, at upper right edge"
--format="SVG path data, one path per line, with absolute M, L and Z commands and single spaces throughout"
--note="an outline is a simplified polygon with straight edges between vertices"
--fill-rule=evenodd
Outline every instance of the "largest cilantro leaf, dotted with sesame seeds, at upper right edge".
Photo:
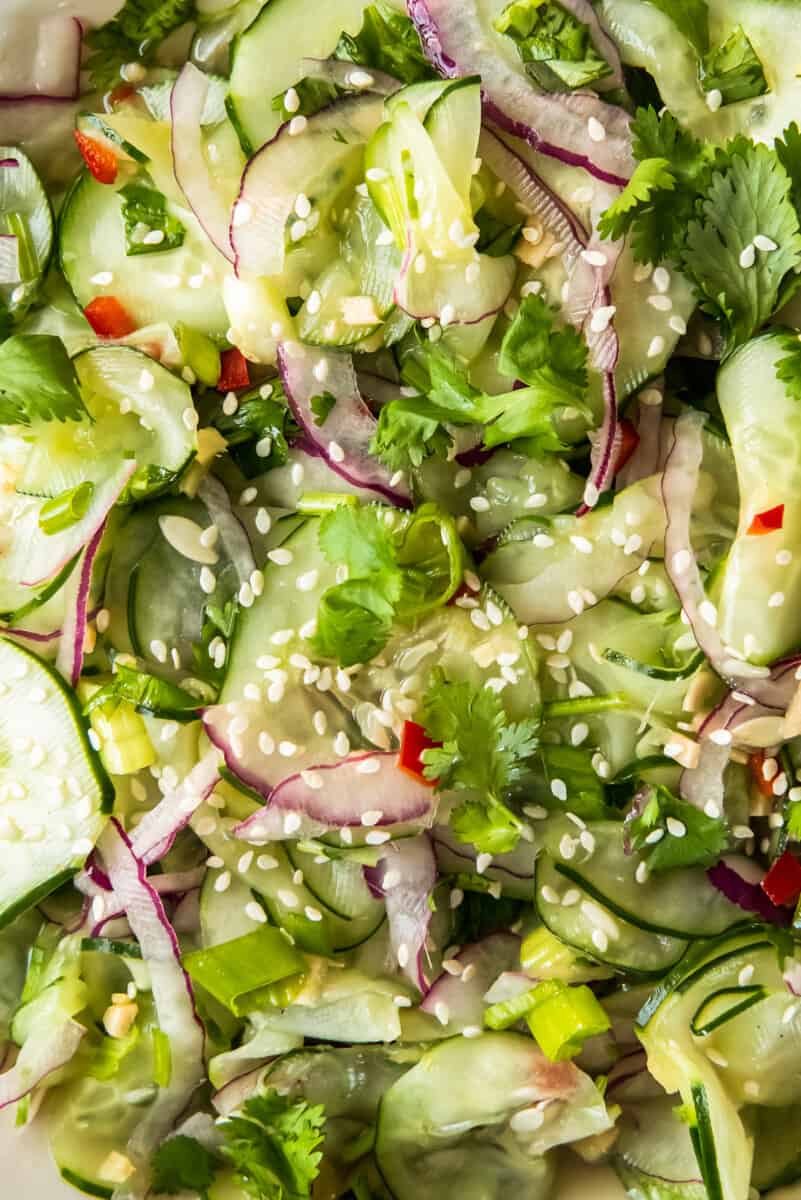
M 716 172 L 687 228 L 681 259 L 701 307 L 717 317 L 729 347 L 747 341 L 783 299 L 788 275 L 801 266 L 801 230 L 790 199 L 790 179 L 764 145 L 737 143 L 728 167 Z M 752 266 L 741 256 L 758 235 L 776 250 L 757 251 Z

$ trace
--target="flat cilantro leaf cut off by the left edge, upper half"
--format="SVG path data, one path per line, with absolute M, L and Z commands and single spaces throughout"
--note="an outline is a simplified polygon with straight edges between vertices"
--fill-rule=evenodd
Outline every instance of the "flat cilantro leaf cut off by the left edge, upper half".
M 0 346 L 0 424 L 79 421 L 89 416 L 64 343 L 52 334 L 17 334 Z

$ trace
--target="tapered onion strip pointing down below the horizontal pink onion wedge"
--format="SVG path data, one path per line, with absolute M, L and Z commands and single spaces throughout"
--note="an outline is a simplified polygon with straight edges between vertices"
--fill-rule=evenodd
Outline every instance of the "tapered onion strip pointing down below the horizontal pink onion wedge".
M 390 944 L 397 964 L 424 995 L 428 991 L 423 966 L 426 938 L 436 883 L 436 860 L 429 839 L 423 835 L 392 842 L 371 874 L 385 898 Z

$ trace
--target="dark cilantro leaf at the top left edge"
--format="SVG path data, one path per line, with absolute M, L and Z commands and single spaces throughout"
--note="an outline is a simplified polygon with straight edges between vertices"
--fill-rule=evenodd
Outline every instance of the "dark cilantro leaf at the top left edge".
M 125 0 L 113 20 L 84 38 L 94 52 L 85 62 L 90 86 L 114 88 L 126 62 L 151 65 L 159 43 L 193 16 L 194 0 Z

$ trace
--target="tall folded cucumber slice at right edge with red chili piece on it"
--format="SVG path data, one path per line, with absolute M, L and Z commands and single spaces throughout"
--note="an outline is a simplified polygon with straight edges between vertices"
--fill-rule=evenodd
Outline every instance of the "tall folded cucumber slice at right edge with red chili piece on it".
M 740 522 L 713 589 L 721 636 L 767 664 L 801 638 L 801 562 L 777 554 L 797 545 L 801 530 L 801 418 L 788 385 L 776 377 L 797 344 L 773 331 L 748 342 L 721 368 L 717 389 L 740 482 Z M 753 518 L 784 505 L 783 524 L 763 536 L 748 534 Z M 771 596 L 782 602 L 771 607 Z

